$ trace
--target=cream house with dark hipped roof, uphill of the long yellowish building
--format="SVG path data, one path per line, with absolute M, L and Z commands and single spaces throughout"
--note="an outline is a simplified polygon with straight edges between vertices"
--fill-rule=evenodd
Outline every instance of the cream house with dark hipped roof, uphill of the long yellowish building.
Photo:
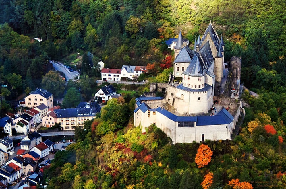
M 34 108 L 41 104 L 45 104 L 48 108 L 52 108 L 53 94 L 44 89 L 37 89 L 25 97 L 25 105 L 30 108 Z

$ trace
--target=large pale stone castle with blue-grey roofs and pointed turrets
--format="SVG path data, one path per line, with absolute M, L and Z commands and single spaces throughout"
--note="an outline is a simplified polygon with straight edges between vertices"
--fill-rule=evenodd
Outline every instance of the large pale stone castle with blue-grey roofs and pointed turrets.
M 224 46 L 222 36 L 217 36 L 211 22 L 202 38 L 198 36 L 195 40 L 193 50 L 188 47 L 188 40 L 183 39 L 180 31 L 172 46 L 174 70 L 165 98 L 137 98 L 134 125 L 141 126 L 144 132 L 154 123 L 173 143 L 231 139 L 235 118 L 226 109 L 212 116 L 198 116 L 210 112 L 220 93 L 225 76 Z M 180 116 L 162 108 L 164 104 L 171 105 Z

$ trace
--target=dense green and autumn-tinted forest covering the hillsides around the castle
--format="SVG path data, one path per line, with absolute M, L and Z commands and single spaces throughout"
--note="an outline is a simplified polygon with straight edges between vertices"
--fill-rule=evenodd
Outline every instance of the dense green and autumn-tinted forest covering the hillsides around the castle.
M 5 111 L 10 108 L 5 99 L 14 100 L 36 87 L 49 89 L 45 81 L 55 74 L 49 72 L 49 59 L 69 64 L 82 57 L 77 69 L 84 79 L 59 85 L 59 90 L 81 87 L 86 99 L 95 92 L 98 60 L 109 68 L 148 66 L 148 75 L 142 77 L 166 81 L 173 54 L 165 41 L 181 30 L 192 46 L 210 20 L 223 36 L 225 62 L 241 56 L 241 80 L 259 95 L 244 92 L 246 116 L 233 141 L 204 143 L 212 155 L 203 167 L 196 161 L 200 144 L 171 145 L 156 126 L 141 133 L 132 125 L 134 99 L 112 100 L 96 120 L 76 129 L 76 144 L 57 152 L 45 172 L 48 188 L 286 187 L 285 1 L 0 2 L 0 81 L 8 85 L 1 88 Z M 42 42 L 33 40 L 36 37 Z M 142 87 L 138 93 L 147 90 Z

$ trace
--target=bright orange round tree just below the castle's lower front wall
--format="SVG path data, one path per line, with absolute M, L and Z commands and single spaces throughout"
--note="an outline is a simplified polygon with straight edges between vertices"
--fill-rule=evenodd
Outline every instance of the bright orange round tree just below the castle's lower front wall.
M 199 168 L 205 167 L 212 159 L 212 150 L 208 145 L 201 144 L 196 154 L 195 162 Z

